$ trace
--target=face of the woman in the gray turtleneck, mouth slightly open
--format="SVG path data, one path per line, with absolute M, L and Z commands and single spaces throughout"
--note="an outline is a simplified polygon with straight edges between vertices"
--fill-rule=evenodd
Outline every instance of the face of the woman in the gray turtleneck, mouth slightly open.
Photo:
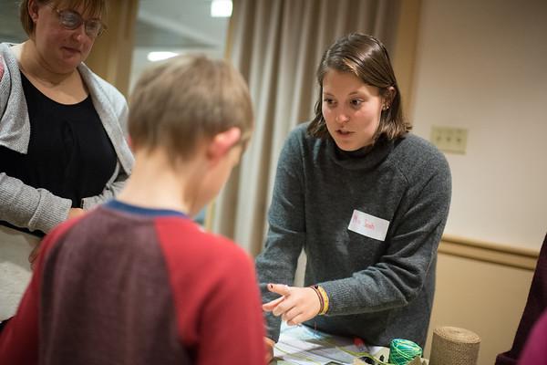
M 326 129 L 343 151 L 356 151 L 372 143 L 380 123 L 384 98 L 348 72 L 330 69 L 323 78 L 323 118 Z

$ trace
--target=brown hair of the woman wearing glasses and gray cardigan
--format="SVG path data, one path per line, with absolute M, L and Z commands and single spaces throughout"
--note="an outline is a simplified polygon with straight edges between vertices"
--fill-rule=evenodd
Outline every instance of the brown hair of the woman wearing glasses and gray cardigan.
M 69 9 L 75 9 L 82 6 L 82 16 L 90 15 L 102 18 L 107 15 L 106 0 L 34 0 L 36 5 L 42 6 L 47 4 L 53 4 L 56 7 L 60 4 L 63 7 Z M 19 19 L 21 25 L 28 36 L 32 36 L 34 33 L 35 24 L 30 14 L 28 14 L 28 2 L 29 0 L 22 0 L 19 4 Z

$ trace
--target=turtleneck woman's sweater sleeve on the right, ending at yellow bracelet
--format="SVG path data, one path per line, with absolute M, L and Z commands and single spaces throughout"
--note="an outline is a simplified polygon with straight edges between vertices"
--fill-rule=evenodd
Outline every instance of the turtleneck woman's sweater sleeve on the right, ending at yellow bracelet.
M 419 178 L 408 182 L 377 264 L 350 277 L 318 283 L 330 299 L 328 316 L 405 307 L 425 286 L 449 214 L 451 178 L 440 153 L 413 174 Z

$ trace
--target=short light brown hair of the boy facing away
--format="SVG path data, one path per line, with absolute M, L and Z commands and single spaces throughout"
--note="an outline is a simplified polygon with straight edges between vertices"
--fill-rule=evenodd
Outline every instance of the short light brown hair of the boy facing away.
M 203 139 L 237 127 L 245 143 L 253 130 L 247 84 L 225 60 L 178 56 L 147 69 L 129 101 L 135 150 L 165 148 L 171 162 L 187 159 Z

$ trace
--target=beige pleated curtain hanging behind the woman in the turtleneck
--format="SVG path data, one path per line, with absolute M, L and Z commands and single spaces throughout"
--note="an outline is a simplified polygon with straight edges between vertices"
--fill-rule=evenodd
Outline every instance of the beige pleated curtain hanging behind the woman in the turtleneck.
M 230 59 L 249 83 L 255 127 L 208 226 L 251 255 L 263 248 L 266 214 L 284 140 L 314 115 L 315 69 L 339 36 L 363 32 L 390 49 L 401 0 L 234 0 Z

